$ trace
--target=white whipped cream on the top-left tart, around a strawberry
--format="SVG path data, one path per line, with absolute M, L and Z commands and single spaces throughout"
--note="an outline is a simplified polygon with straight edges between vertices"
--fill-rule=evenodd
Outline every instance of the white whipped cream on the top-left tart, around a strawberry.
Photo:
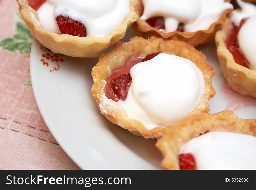
M 39 9 L 40 25 L 59 33 L 56 17 L 63 15 L 86 27 L 87 37 L 109 35 L 119 26 L 130 10 L 129 0 L 47 0 Z

